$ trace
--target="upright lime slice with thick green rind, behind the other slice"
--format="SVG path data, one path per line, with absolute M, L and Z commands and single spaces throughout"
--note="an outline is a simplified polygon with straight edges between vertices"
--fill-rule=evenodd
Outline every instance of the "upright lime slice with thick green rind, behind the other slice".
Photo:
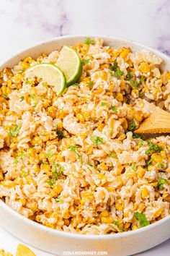
M 79 54 L 69 46 L 63 46 L 56 65 L 63 71 L 67 86 L 79 80 L 82 72 L 82 64 Z

